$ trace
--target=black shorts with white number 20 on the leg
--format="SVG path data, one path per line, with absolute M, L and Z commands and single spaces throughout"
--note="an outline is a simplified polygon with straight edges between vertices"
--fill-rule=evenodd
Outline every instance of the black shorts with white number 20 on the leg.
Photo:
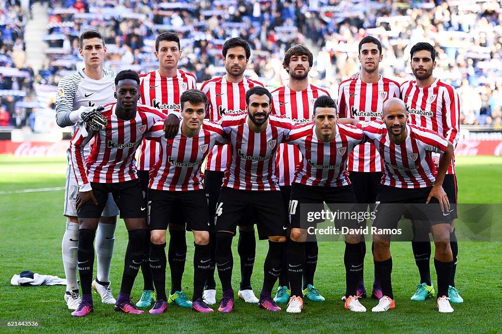
M 315 227 L 316 224 L 326 221 L 326 218 L 322 219 L 315 216 L 316 212 L 321 213 L 325 210 L 324 202 L 332 213 L 358 212 L 352 185 L 319 187 L 293 182 L 291 188 L 289 214 L 292 228 L 308 229 L 309 227 Z M 351 215 L 345 216 L 345 214 L 343 214 L 341 219 L 334 219 L 333 222 L 336 228 L 358 228 L 360 223 L 358 223 L 356 219 L 351 219 L 349 216 Z

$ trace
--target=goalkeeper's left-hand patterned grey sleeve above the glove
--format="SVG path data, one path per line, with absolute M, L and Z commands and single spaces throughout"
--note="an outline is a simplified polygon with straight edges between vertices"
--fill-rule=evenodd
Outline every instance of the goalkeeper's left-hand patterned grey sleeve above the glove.
M 61 128 L 74 124 L 70 121 L 70 113 L 73 111 L 73 99 L 77 93 L 79 83 L 78 78 L 70 78 L 70 76 L 59 80 L 55 101 L 56 124 Z

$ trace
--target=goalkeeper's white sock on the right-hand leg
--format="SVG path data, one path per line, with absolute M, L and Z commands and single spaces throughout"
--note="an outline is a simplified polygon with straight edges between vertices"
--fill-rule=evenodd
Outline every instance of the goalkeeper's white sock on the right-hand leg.
M 115 243 L 115 227 L 117 224 L 99 223 L 96 231 L 97 279 L 100 282 L 110 281 L 111 255 Z

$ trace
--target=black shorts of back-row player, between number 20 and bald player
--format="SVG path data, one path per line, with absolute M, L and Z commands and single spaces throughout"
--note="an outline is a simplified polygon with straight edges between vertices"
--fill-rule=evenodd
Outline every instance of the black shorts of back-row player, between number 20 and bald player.
M 374 203 L 382 187 L 382 172 L 349 172 L 357 203 Z

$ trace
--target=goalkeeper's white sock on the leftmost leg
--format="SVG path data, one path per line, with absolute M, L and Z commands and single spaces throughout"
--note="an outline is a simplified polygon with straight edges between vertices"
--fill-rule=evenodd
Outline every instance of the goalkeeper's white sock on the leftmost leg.
M 77 283 L 78 224 L 66 222 L 66 230 L 61 243 L 63 266 L 66 276 L 66 291 L 78 290 Z

